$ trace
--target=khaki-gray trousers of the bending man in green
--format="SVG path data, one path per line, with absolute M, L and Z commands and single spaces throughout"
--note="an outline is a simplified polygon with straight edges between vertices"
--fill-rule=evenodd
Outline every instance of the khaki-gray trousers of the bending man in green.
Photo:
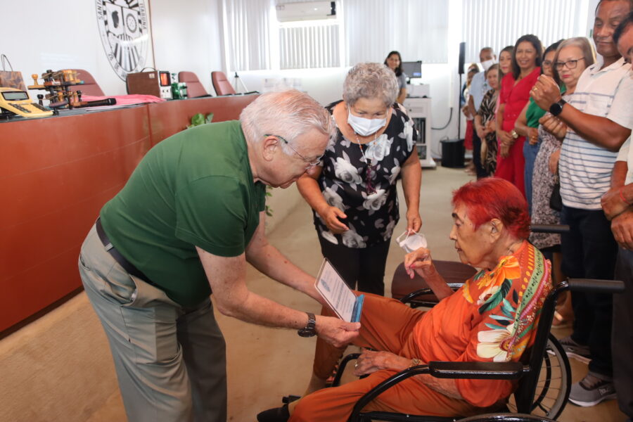
M 184 308 L 130 276 L 94 226 L 79 274 L 106 331 L 129 421 L 226 421 L 226 350 L 210 299 Z

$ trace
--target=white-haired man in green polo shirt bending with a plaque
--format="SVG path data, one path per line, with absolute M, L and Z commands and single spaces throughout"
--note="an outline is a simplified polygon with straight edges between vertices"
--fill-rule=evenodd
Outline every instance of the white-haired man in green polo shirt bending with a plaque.
M 299 91 L 263 94 L 239 121 L 158 143 L 101 209 L 79 256 L 129 421 L 226 421 L 226 357 L 212 312 L 334 345 L 359 324 L 290 309 L 245 285 L 246 262 L 322 303 L 314 277 L 264 236 L 265 186 L 311 172 L 332 124 Z

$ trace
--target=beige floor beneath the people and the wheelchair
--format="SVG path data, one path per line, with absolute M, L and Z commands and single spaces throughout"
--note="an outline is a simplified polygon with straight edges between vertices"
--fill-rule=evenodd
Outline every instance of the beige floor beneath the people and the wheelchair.
M 458 169 L 438 167 L 423 172 L 422 231 L 435 259 L 456 259 L 448 239 L 452 224 L 449 199 L 452 190 L 468 179 Z M 400 199 L 404 204 L 402 196 Z M 400 222 L 396 234 L 402 231 L 404 223 Z M 322 257 L 305 203 L 277 224 L 269 241 L 316 274 Z M 387 292 L 402 257 L 402 250 L 392 244 L 385 276 Z M 313 300 L 252 268 L 248 269 L 248 287 L 295 309 L 319 311 Z M 298 395 L 305 389 L 314 338 L 299 338 L 294 331 L 255 326 L 222 315 L 217 319 L 227 343 L 229 421 L 255 421 L 259 411 L 279 406 L 283 395 Z M 587 366 L 573 360 L 571 364 L 573 381 L 577 381 Z M 0 341 L 0 374 L 0 421 L 125 421 L 106 338 L 84 293 Z M 622 422 L 625 416 L 612 400 L 592 408 L 569 404 L 558 420 Z

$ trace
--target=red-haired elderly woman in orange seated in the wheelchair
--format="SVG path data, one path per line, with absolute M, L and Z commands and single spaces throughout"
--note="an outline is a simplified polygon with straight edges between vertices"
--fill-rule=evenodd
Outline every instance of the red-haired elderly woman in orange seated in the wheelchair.
M 366 349 L 354 374 L 367 375 L 324 388 L 345 348 L 320 339 L 305 395 L 257 416 L 265 421 L 346 421 L 357 400 L 390 376 L 431 361 L 518 361 L 535 338 L 544 299 L 551 290 L 550 264 L 526 240 L 530 217 L 525 198 L 508 181 L 470 182 L 454 192 L 450 238 L 461 262 L 480 269 L 453 292 L 437 273 L 430 251 L 411 252 L 404 264 L 422 276 L 440 302 L 423 311 L 398 300 L 366 294 L 362 328 L 353 344 Z M 334 315 L 331 309 L 323 314 Z M 373 349 L 373 350 L 369 350 Z M 515 384 L 507 380 L 408 378 L 369 402 L 367 411 L 432 416 L 471 416 L 503 407 Z

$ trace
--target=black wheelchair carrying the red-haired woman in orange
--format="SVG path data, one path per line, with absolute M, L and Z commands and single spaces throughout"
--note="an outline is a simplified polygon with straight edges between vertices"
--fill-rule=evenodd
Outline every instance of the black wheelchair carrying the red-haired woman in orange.
M 533 231 L 564 231 L 565 227 L 536 226 Z M 460 288 L 463 281 L 475 274 L 475 269 L 460 262 L 435 261 L 437 271 L 442 274 L 451 288 Z M 404 276 L 403 276 L 404 275 Z M 416 281 L 417 279 L 417 281 Z M 459 282 L 458 282 L 459 281 Z M 416 275 L 413 284 L 409 280 L 404 264 L 396 269 L 394 282 L 392 283 L 392 297 L 407 303 L 412 307 L 433 307 L 437 303 L 435 295 L 429 288 L 418 290 L 407 295 L 402 295 L 402 290 L 409 289 L 411 285 L 426 286 L 423 279 Z M 373 390 L 367 392 L 354 405 L 350 422 L 368 421 L 411 421 L 411 422 L 484 422 L 484 421 L 551 421 L 563 411 L 567 403 L 571 389 L 571 369 L 567 354 L 558 340 L 549 333 L 551 322 L 554 319 L 554 310 L 558 295 L 565 290 L 585 291 L 589 293 L 620 293 L 624 290 L 621 281 L 568 279 L 555 286 L 544 301 L 542 312 L 537 326 L 535 342 L 526 350 L 520 362 L 429 362 L 425 365 L 413 366 L 405 369 L 382 383 L 376 385 Z M 435 299 L 435 300 L 434 300 Z M 352 359 L 357 359 L 359 353 L 348 354 L 340 362 L 335 374 L 332 386 L 340 385 L 340 379 L 345 371 L 345 366 Z M 373 399 L 388 388 L 404 381 L 411 376 L 430 374 L 436 378 L 470 378 L 490 380 L 518 380 L 518 386 L 506 404 L 506 409 L 501 409 L 503 414 L 487 414 L 482 416 L 441 417 L 441 416 L 416 416 L 410 414 L 395 414 L 383 411 L 371 411 L 364 413 L 362 409 Z

